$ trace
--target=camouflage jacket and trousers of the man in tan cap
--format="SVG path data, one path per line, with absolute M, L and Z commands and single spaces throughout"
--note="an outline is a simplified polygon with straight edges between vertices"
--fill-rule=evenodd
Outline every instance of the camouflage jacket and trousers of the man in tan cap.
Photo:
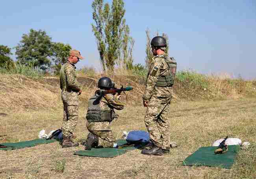
M 63 101 L 63 137 L 72 137 L 78 122 L 78 92 L 80 83 L 76 80 L 76 66 L 67 61 L 60 70 L 61 99 Z

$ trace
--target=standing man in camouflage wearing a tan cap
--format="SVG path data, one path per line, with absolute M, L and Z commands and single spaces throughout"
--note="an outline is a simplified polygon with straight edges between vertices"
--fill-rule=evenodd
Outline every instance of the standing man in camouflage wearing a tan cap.
M 81 85 L 76 80 L 76 66 L 79 59 L 83 59 L 78 50 L 70 50 L 69 59 L 61 66 L 59 72 L 59 84 L 61 88 L 61 99 L 63 101 L 63 142 L 62 148 L 75 147 L 70 139 L 78 122 L 78 95 L 82 93 Z

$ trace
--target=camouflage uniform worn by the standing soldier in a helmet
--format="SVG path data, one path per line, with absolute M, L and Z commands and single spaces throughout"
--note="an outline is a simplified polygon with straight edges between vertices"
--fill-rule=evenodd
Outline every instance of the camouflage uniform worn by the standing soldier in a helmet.
M 169 65 L 167 64 L 169 61 Z M 169 68 L 170 66 L 170 68 Z M 153 57 L 148 71 L 143 100 L 148 101 L 145 114 L 145 125 L 152 142 L 162 149 L 170 149 L 170 122 L 168 118 L 170 101 L 172 99 L 172 85 L 163 87 L 158 85 L 159 78 L 176 72 L 176 61 L 167 54 Z

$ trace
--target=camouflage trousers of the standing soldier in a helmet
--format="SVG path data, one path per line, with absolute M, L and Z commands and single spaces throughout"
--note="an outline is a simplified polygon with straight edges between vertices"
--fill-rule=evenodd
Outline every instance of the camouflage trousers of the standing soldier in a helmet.
M 162 149 L 170 148 L 169 108 L 170 100 L 152 96 L 144 119 L 151 140 Z

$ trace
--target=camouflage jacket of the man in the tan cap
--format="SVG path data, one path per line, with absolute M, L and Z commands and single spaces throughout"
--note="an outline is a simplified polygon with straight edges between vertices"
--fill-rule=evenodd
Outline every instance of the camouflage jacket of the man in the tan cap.
M 70 91 L 80 91 L 81 85 L 76 80 L 76 66 L 67 61 L 61 66 L 59 72 L 59 85 L 61 90 L 67 89 Z

